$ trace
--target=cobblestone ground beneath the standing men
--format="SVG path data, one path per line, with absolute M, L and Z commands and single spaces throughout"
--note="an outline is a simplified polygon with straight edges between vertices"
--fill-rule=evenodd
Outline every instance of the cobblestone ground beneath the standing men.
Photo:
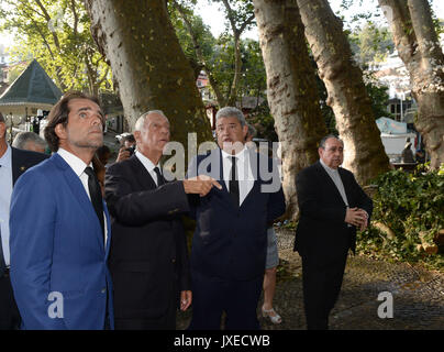
M 302 267 L 292 252 L 293 232 L 279 231 L 279 257 L 291 275 L 279 279 L 274 306 L 282 323 L 258 317 L 264 330 L 306 329 L 302 302 Z M 380 293 L 392 295 L 393 318 L 378 317 Z M 262 302 L 259 302 L 259 307 Z M 191 311 L 178 315 L 178 329 L 186 329 Z M 443 330 L 444 274 L 407 263 L 386 263 L 365 256 L 349 256 L 340 298 L 330 316 L 332 330 Z

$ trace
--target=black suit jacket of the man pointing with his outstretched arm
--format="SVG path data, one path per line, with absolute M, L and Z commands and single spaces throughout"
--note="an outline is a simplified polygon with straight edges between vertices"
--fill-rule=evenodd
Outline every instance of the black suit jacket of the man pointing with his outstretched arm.
M 104 185 L 112 226 L 114 316 L 162 317 L 178 290 L 190 289 L 180 218 L 189 209 L 184 185 L 157 187 L 135 155 L 108 167 Z

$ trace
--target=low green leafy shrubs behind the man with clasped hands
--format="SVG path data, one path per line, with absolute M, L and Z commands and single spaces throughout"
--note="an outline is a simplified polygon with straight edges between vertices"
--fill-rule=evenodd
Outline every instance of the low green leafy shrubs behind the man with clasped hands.
M 424 172 L 421 165 L 414 173 L 390 170 L 376 179 L 373 221 L 384 223 L 395 238 L 369 227 L 358 238 L 358 251 L 374 256 L 421 262 L 444 270 L 443 254 L 429 255 L 417 250 L 423 241 L 433 243 L 444 229 L 444 166 L 440 172 Z

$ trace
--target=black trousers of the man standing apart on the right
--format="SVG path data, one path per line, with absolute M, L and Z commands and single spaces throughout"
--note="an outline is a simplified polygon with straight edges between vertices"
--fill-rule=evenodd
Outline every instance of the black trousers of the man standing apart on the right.
M 329 329 L 329 315 L 341 292 L 347 254 L 322 263 L 302 256 L 303 305 L 308 330 Z

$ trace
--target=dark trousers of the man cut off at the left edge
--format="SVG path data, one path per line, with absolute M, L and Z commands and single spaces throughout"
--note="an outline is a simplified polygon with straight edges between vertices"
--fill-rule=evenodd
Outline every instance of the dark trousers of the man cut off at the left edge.
M 20 329 L 20 312 L 12 293 L 9 273 L 0 277 L 0 330 Z

